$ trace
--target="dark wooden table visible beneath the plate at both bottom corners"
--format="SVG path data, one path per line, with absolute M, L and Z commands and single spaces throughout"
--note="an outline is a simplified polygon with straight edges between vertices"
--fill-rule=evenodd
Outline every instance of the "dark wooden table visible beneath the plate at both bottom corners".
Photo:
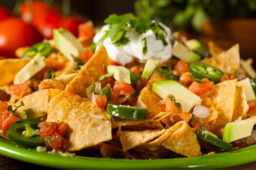
M 0 170 L 57 170 L 17 161 L 0 155 Z M 256 170 L 256 162 L 221 170 Z

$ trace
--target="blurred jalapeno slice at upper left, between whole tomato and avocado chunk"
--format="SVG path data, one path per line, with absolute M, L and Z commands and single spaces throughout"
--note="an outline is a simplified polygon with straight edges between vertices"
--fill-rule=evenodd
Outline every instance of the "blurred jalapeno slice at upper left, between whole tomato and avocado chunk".
M 43 57 L 48 57 L 52 52 L 52 46 L 48 42 L 40 42 L 31 46 L 21 58 L 35 57 L 36 54 L 40 54 Z

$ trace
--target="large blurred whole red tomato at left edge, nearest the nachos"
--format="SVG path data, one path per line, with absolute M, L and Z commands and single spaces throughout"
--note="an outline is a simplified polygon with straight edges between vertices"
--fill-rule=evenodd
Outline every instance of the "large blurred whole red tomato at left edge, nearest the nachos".
M 0 22 L 0 56 L 15 57 L 17 48 L 42 40 L 42 35 L 21 19 L 9 18 Z

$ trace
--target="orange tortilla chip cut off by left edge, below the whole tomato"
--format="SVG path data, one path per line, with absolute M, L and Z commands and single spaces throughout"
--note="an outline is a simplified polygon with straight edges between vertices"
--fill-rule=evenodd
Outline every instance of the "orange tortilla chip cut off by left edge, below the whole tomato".
M 2 59 L 0 60 L 0 86 L 11 83 L 14 77 L 29 62 L 25 59 Z

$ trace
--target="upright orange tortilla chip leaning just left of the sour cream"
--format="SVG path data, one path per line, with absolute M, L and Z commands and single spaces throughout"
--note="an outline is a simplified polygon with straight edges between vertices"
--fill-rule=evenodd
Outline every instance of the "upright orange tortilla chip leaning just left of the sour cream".
M 110 64 L 107 51 L 102 45 L 93 57 L 81 67 L 79 74 L 66 86 L 65 91 L 86 97 L 86 88 L 92 82 L 98 81 L 100 76 L 106 74 L 104 68 Z

